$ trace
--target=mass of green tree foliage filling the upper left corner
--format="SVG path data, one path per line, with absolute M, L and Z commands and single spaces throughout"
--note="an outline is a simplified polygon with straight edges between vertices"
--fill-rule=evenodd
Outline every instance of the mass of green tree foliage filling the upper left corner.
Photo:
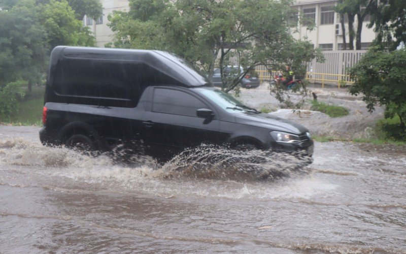
M 95 45 L 65 0 L 0 0 L 0 88 L 19 79 L 40 83 L 56 45 Z

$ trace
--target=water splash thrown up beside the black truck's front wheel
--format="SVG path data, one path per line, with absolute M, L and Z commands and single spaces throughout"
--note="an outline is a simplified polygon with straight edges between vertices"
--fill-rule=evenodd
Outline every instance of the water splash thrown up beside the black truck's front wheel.
M 312 158 L 304 153 L 273 150 L 235 150 L 214 145 L 186 149 L 161 170 L 168 176 L 195 178 L 277 179 L 306 172 Z

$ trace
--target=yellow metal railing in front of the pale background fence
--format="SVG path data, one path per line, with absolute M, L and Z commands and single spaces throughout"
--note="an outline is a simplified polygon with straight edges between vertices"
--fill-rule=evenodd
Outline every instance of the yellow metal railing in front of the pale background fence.
M 272 71 L 269 73 L 268 71 L 264 70 L 256 70 L 259 76 L 260 82 L 263 80 L 270 80 L 273 79 L 274 76 L 280 72 Z M 343 75 L 343 74 L 330 74 L 330 73 L 314 73 L 314 72 L 307 72 L 306 79 L 313 82 L 321 83 L 321 87 L 324 88 L 326 83 L 329 84 L 337 84 L 337 87 L 340 88 L 346 84 L 353 84 L 354 81 L 350 79 L 350 75 Z

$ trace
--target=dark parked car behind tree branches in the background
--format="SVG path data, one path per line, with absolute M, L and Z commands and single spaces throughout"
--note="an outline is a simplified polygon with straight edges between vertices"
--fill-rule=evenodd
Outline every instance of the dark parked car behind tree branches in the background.
M 223 72 L 226 74 L 226 78 L 234 79 L 239 77 L 241 74 L 244 73 L 244 69 L 238 66 L 227 66 L 224 68 Z M 221 86 L 222 79 L 220 74 L 220 69 L 217 68 L 213 72 L 213 76 L 210 78 L 213 85 Z M 260 80 L 258 75 L 255 72 L 247 73 L 244 78 L 240 82 L 240 86 L 244 88 L 255 88 L 260 85 Z

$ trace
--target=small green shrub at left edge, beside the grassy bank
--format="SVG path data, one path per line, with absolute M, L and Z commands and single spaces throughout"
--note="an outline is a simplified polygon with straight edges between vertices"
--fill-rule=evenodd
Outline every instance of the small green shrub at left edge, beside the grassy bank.
M 17 96 L 24 97 L 21 90 L 21 81 L 10 82 L 0 87 L 0 116 L 8 116 L 17 111 Z

